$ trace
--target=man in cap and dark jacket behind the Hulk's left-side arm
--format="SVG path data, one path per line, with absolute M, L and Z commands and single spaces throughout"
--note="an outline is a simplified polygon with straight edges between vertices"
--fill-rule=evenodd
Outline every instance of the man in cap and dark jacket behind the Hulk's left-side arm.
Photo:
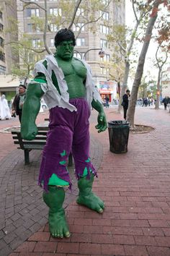
M 22 119 L 22 107 L 25 100 L 26 86 L 19 85 L 19 93 L 15 95 L 14 101 L 12 103 L 12 115 L 17 114 L 19 116 L 19 121 L 21 123 Z

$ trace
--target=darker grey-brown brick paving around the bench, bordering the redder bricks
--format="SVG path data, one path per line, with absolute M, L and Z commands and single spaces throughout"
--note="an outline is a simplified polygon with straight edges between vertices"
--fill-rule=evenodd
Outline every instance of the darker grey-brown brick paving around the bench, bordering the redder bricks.
M 48 117 L 48 112 L 39 114 L 37 123 L 42 123 L 46 117 Z M 0 148 L 1 256 L 9 255 L 48 221 L 48 208 L 42 202 L 42 189 L 37 186 L 42 151 L 32 150 L 31 163 L 29 166 L 24 166 L 24 152 L 16 150 L 17 145 L 13 143 L 11 133 L 6 133 L 5 129 L 17 126 L 19 122 L 15 119 L 0 122 L 0 140 L 3 145 Z M 94 164 L 99 168 L 102 147 L 99 142 L 95 142 L 95 146 L 100 149 L 98 154 L 95 153 L 94 140 L 91 138 L 91 151 L 93 152 L 91 156 L 94 158 Z M 78 194 L 73 167 L 69 167 L 68 170 L 71 174 L 73 190 L 66 193 L 65 208 L 76 199 Z

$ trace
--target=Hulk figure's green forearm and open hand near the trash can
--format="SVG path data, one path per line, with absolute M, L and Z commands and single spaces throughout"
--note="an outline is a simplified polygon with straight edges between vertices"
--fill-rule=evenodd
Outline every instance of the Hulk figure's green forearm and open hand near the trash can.
M 104 132 L 107 129 L 107 118 L 104 114 L 104 109 L 101 103 L 99 101 L 92 101 L 91 106 L 99 112 L 97 117 L 98 124 L 96 125 L 96 129 L 98 129 L 98 132 Z

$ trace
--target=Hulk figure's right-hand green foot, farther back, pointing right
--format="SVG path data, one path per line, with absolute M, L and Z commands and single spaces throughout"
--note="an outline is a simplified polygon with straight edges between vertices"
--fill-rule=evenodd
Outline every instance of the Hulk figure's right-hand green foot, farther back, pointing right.
M 76 202 L 80 205 L 85 205 L 91 210 L 97 211 L 97 213 L 103 213 L 104 202 L 93 192 L 90 192 L 89 195 L 79 195 Z

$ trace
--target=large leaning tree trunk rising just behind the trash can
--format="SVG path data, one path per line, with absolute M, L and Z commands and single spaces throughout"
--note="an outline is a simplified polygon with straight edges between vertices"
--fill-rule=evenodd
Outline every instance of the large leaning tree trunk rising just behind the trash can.
M 154 2 L 154 7 L 159 6 L 159 4 L 161 4 L 161 2 L 159 0 Z M 143 75 L 143 67 L 145 64 L 145 59 L 146 59 L 146 53 L 148 51 L 148 46 L 151 40 L 151 34 L 152 34 L 152 30 L 153 30 L 153 25 L 156 22 L 156 18 L 157 18 L 157 13 L 154 16 L 150 17 L 150 20 L 148 21 L 148 27 L 146 29 L 146 36 L 144 39 L 144 43 L 143 43 L 143 48 L 140 52 L 140 57 L 139 57 L 139 61 L 138 61 L 138 67 L 136 69 L 135 72 L 135 80 L 133 82 L 133 88 L 132 88 L 132 92 L 130 94 L 130 102 L 129 102 L 129 107 L 128 107 L 128 115 L 127 115 L 127 120 L 130 122 L 130 127 L 134 127 L 134 117 L 135 117 L 135 104 L 138 98 L 138 88 L 140 86 L 140 82 L 141 82 L 141 78 Z

